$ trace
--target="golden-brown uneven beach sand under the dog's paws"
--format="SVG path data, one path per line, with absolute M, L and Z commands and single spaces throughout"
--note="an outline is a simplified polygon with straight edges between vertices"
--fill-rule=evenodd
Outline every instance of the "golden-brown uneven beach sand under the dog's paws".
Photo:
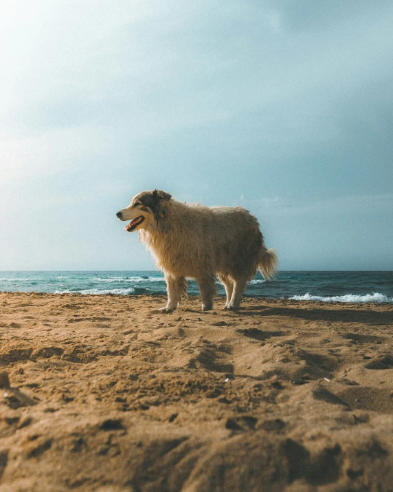
M 0 491 L 392 491 L 393 306 L 0 293 Z

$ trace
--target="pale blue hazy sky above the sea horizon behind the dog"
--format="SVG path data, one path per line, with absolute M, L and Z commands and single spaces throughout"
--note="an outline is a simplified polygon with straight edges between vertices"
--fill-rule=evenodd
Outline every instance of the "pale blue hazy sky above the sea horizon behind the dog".
M 153 270 L 139 191 L 244 206 L 282 270 L 393 270 L 390 0 L 0 3 L 0 270 Z

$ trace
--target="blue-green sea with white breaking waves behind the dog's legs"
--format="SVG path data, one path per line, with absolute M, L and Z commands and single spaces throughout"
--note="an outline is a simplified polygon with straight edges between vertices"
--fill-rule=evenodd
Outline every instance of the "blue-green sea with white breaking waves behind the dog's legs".
M 218 295 L 225 295 L 221 284 Z M 166 283 L 157 271 L 8 272 L 0 271 L 0 291 L 52 292 L 82 295 L 165 295 Z M 189 281 L 189 295 L 199 295 Z M 306 301 L 393 303 L 393 272 L 281 271 L 274 281 L 260 274 L 251 280 L 245 296 Z

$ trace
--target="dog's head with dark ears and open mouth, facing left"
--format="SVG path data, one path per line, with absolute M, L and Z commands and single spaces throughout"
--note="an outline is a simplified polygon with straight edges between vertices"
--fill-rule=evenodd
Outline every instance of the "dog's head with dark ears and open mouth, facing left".
M 171 196 L 161 190 L 142 191 L 131 200 L 128 207 L 117 212 L 120 220 L 131 220 L 124 231 L 132 233 L 138 229 L 146 229 L 149 225 L 159 224 L 166 217 L 166 206 Z

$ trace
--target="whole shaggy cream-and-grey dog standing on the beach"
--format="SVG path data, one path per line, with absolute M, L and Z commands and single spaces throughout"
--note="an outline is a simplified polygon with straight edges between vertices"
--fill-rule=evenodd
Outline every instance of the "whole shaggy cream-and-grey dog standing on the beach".
M 256 217 L 240 206 L 186 204 L 164 191 L 142 191 L 117 217 L 132 221 L 124 229 L 138 231 L 164 271 L 164 312 L 175 310 L 187 295 L 187 277 L 198 283 L 203 311 L 213 307 L 216 276 L 227 293 L 224 309 L 235 310 L 258 269 L 266 279 L 276 273 L 275 251 L 266 248 Z

